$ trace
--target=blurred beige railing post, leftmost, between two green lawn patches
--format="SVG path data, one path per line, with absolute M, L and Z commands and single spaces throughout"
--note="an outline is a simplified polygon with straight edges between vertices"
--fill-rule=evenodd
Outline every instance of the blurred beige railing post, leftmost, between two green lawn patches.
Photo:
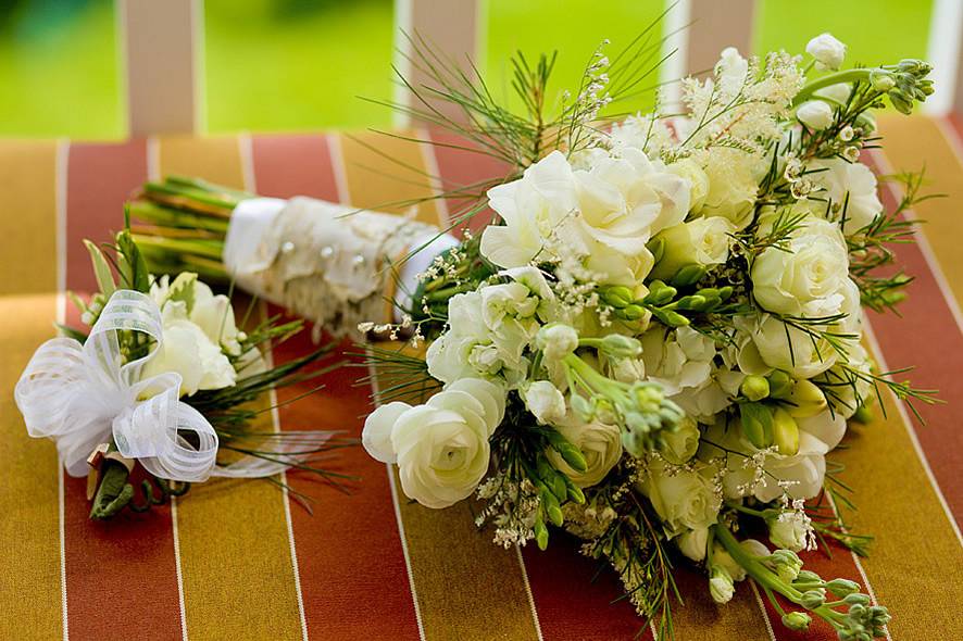
M 130 136 L 202 129 L 202 0 L 118 0 Z

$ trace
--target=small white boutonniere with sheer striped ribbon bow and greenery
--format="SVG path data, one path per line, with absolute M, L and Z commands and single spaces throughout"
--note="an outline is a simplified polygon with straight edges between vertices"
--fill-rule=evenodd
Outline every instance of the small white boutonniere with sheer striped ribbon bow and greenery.
M 340 476 L 316 465 L 339 445 L 335 432 L 277 432 L 263 420 L 272 405 L 259 399 L 325 372 L 307 367 L 327 347 L 271 364 L 266 350 L 301 320 L 238 327 L 228 297 L 196 273 L 151 276 L 129 230 L 110 247 L 86 246 L 100 291 L 72 298 L 87 328 L 61 327 L 40 345 L 14 397 L 29 435 L 53 439 L 72 476 L 89 472 L 90 518 L 147 511 L 210 477 L 283 482 L 272 477 L 291 467 Z

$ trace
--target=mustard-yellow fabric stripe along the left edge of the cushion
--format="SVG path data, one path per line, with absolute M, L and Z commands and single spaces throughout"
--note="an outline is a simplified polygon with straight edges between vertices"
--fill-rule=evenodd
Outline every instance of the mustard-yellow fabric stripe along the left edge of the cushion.
M 27 361 L 54 335 L 55 185 L 53 143 L 0 143 L 0 639 L 64 628 L 57 449 L 27 436 L 13 402 Z

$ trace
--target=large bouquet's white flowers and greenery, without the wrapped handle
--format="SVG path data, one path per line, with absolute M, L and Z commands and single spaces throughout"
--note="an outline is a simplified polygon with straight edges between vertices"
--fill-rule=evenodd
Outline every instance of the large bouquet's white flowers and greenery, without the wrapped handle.
M 402 310 L 396 329 L 429 341 L 424 361 L 372 351 L 440 390 L 414 404 L 383 390 L 363 444 L 427 507 L 476 497 L 497 544 L 545 549 L 551 527 L 580 538 L 660 636 L 677 558 L 718 603 L 750 578 L 790 629 L 820 617 L 842 640 L 884 636 L 885 607 L 797 553 L 826 538 L 865 552 L 827 472 L 847 419 L 881 387 L 933 400 L 861 344 L 861 305 L 887 310 L 910 281 L 888 244 L 912 240 L 900 214 L 920 185 L 906 176 L 886 211 L 861 152 L 878 143 L 874 110 L 909 113 L 931 92 L 929 66 L 840 71 L 829 35 L 809 61 L 726 49 L 711 77 L 681 81 L 680 109 L 600 115 L 652 73 L 658 49 L 640 39 L 611 61 L 600 49 L 553 106 L 552 59 L 518 55 L 517 114 L 415 47 L 437 87 L 411 90 L 465 117 L 415 115 L 513 174 L 480 201 L 495 222 L 433 256 Z

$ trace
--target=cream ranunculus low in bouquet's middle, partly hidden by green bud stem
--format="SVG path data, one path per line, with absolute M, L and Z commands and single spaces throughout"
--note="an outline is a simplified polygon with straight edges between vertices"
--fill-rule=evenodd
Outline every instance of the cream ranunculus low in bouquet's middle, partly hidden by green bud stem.
M 555 425 L 555 429 L 581 450 L 586 470 L 571 467 L 553 449 L 546 451 L 551 464 L 579 488 L 590 488 L 602 481 L 622 458 L 622 431 L 614 425 L 592 420 L 585 423 L 574 415 Z

